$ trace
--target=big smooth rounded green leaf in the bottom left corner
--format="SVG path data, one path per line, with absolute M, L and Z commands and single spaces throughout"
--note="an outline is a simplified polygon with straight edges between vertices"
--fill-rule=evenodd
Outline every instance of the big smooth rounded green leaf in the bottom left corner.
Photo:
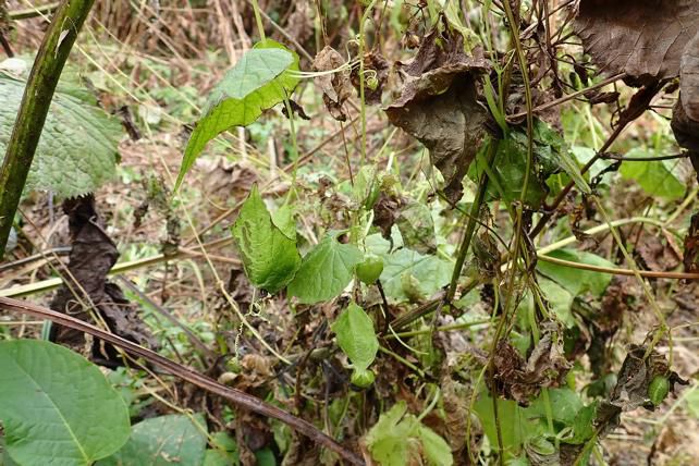
M 0 343 L 0 420 L 23 466 L 90 465 L 126 442 L 128 410 L 87 359 L 53 343 Z

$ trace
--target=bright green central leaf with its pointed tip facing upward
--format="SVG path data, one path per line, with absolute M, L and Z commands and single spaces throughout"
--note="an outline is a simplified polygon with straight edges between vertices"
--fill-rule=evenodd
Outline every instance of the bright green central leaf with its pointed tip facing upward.
M 257 186 L 253 186 L 232 228 L 247 278 L 270 293 L 286 286 L 301 265 L 293 218 L 277 217 L 274 222 Z

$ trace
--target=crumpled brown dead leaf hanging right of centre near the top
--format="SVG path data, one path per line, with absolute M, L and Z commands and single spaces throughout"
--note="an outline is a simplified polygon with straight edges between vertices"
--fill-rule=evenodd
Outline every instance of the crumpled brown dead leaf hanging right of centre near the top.
M 464 53 L 463 36 L 438 24 L 404 68 L 401 97 L 385 109 L 391 123 L 429 149 L 453 203 L 485 136 L 488 112 L 477 100 L 477 76 L 486 70 L 481 57 Z

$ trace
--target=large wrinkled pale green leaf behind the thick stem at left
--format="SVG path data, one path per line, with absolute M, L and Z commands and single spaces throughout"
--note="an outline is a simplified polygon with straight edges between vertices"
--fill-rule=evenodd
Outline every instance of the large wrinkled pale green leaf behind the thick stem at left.
M 0 162 L 24 86 L 24 81 L 0 73 Z M 75 96 L 65 86 L 53 95 L 26 189 L 50 189 L 61 197 L 74 197 L 96 191 L 114 175 L 121 123 L 95 101 Z

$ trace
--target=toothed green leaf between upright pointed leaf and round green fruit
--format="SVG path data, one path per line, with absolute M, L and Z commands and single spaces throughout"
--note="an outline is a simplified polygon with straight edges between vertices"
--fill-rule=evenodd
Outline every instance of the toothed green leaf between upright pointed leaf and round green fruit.
M 332 299 L 350 284 L 361 259 L 356 246 L 340 244 L 335 234 L 328 234 L 304 257 L 289 293 L 304 304 Z

